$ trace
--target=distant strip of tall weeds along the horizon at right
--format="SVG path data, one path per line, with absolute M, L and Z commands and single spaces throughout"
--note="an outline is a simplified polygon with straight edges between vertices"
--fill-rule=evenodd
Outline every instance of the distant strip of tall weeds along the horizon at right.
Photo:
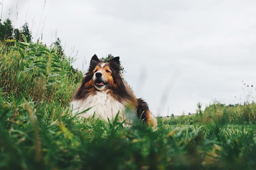
M 181 115 L 178 117 L 163 118 L 165 124 L 197 124 L 197 123 L 218 123 L 225 124 L 256 124 L 256 104 L 255 102 L 245 102 L 241 104 L 221 104 L 218 101 L 207 106 L 204 111 L 201 110 L 201 104 L 198 103 L 198 109 L 195 114 Z

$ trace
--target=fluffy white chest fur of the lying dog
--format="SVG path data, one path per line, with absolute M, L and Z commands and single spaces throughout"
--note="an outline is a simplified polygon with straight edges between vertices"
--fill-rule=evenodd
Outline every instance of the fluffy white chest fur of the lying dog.
M 119 113 L 119 120 L 126 119 L 124 116 L 125 105 L 109 95 L 108 91 L 97 91 L 96 95 L 90 95 L 86 99 L 73 100 L 70 106 L 73 108 L 73 115 L 90 108 L 90 110 L 79 115 L 85 118 L 92 117 L 95 113 L 96 118 L 100 117 L 107 121 L 108 119 L 114 119 Z

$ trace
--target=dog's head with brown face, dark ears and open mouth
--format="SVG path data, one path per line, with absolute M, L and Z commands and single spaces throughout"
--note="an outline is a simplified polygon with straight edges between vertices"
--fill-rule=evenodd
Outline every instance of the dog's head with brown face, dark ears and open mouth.
M 110 59 L 107 63 L 94 55 L 90 62 L 89 71 L 93 74 L 94 86 L 99 91 L 114 87 L 115 81 L 121 78 L 119 57 Z

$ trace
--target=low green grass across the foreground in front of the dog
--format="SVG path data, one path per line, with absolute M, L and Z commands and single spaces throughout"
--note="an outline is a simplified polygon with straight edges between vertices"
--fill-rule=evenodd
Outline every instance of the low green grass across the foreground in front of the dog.
M 166 125 L 77 119 L 55 100 L 38 110 L 0 102 L 0 168 L 255 169 L 256 126 Z

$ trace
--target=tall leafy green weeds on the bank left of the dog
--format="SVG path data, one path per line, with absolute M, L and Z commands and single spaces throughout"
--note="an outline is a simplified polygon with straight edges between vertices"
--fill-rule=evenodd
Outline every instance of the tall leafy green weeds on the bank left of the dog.
M 67 104 L 82 73 L 74 70 L 70 59 L 60 60 L 56 47 L 27 43 L 22 36 L 25 42 L 14 41 L 9 50 L 1 46 L 0 86 L 4 95 L 25 93 L 25 98 L 33 101 L 58 99 Z

